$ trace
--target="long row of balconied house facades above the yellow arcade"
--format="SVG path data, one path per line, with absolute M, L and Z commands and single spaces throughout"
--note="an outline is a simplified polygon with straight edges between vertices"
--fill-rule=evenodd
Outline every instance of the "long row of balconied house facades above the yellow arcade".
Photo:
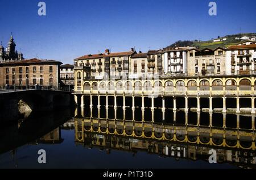
M 127 52 L 85 55 L 74 60 L 77 79 L 139 78 L 149 76 L 236 76 L 255 74 L 256 42 L 228 48 L 163 48 L 147 53 Z M 81 71 L 82 70 L 82 71 Z

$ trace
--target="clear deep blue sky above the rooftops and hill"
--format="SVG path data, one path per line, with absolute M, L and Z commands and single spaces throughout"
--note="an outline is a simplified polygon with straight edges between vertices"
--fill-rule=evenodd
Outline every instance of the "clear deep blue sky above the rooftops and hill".
M 40 0 L 43 1 L 43 0 Z M 16 48 L 26 58 L 38 56 L 72 63 L 86 54 L 166 47 L 177 40 L 209 40 L 256 32 L 256 1 L 215 1 L 209 16 L 206 0 L 0 0 L 0 41 L 13 31 Z

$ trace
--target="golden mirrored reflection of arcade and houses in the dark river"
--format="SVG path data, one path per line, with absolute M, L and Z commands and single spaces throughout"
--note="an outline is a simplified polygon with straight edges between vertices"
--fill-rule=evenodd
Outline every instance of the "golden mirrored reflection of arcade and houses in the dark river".
M 193 116 L 188 112 L 174 112 L 172 117 L 168 117 L 169 120 L 154 122 L 85 118 L 82 116 L 83 111 L 78 108 L 74 118 L 77 145 L 88 148 L 96 146 L 101 150 L 105 149 L 106 153 L 110 153 L 111 149 L 118 149 L 133 152 L 133 156 L 136 156 L 137 151 L 142 150 L 150 154 L 159 154 L 160 157 L 174 157 L 177 160 L 185 158 L 205 161 L 208 161 L 210 156 L 209 150 L 215 149 L 218 163 L 256 168 L 255 116 L 202 112 L 196 112 L 196 116 Z M 208 116 L 208 119 L 205 118 L 208 120 L 207 125 L 202 125 L 204 119 L 201 115 L 203 118 Z M 177 124 L 177 118 L 183 118 L 184 124 Z M 226 121 L 230 119 L 235 123 L 226 125 Z M 194 124 L 188 123 L 193 121 Z

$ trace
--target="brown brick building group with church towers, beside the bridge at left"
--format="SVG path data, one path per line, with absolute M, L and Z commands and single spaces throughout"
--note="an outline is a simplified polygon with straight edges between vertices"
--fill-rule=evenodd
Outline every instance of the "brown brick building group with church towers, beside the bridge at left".
M 40 89 L 72 90 L 74 86 L 73 65 L 55 60 L 23 58 L 15 51 L 13 35 L 7 48 L 0 45 L 0 89 Z

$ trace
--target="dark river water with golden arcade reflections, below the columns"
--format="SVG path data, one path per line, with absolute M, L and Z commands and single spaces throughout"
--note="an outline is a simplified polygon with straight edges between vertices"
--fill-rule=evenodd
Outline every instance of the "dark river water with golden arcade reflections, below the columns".
M 0 168 L 256 168 L 255 117 L 225 115 L 223 127 L 224 115 L 207 112 L 170 110 L 164 121 L 155 112 L 154 122 L 147 110 L 143 122 L 141 112 L 133 121 L 129 108 L 125 121 L 111 119 L 111 108 L 109 119 L 92 112 L 94 118 L 86 118 L 88 108 L 32 113 L 2 125 Z M 104 108 L 100 114 L 106 116 Z M 40 149 L 45 164 L 38 161 Z M 210 164 L 210 156 L 217 163 Z

